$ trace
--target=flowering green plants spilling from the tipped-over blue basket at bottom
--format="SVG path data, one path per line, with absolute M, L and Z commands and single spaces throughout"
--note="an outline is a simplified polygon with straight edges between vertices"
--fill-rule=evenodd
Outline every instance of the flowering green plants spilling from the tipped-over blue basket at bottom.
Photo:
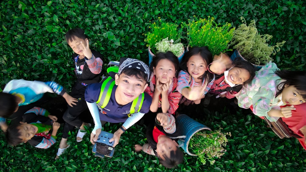
M 212 165 L 215 159 L 220 158 L 226 151 L 226 135 L 230 133 L 223 134 L 221 130 L 201 130 L 191 137 L 189 150 L 196 154 L 203 164 L 208 160 Z

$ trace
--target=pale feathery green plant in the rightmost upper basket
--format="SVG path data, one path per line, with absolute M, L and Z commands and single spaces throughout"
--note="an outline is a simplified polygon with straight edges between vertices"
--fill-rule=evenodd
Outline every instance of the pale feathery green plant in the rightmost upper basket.
M 241 17 L 242 24 L 234 31 L 233 41 L 230 44 L 237 49 L 242 57 L 249 62 L 260 65 L 268 61 L 272 61 L 271 55 L 275 55 L 285 43 L 285 41 L 277 42 L 275 46 L 269 46 L 267 43 L 272 36 L 268 34 L 259 35 L 255 20 L 249 25 Z

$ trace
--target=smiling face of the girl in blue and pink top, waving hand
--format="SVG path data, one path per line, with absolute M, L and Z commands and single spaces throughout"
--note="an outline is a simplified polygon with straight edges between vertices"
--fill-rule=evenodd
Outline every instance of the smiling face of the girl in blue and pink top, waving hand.
M 200 54 L 196 54 L 189 58 L 187 62 L 187 68 L 188 73 L 196 79 L 205 73 L 207 70 L 207 64 L 200 56 Z

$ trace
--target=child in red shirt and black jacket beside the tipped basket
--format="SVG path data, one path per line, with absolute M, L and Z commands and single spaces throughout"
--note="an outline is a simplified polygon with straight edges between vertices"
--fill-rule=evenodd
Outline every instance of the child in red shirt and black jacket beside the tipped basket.
M 159 163 L 167 168 L 173 168 L 180 164 L 184 158 L 177 142 L 170 138 L 179 136 L 174 116 L 168 113 L 158 113 L 156 119 L 154 127 L 149 125 L 147 129 L 149 143 L 143 146 L 135 145 L 135 151 L 142 150 L 147 154 L 157 156 Z

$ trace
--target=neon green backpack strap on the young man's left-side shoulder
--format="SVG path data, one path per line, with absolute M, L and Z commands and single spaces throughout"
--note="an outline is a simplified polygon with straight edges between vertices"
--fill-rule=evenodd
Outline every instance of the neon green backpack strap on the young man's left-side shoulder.
M 98 101 L 96 101 L 96 104 L 98 105 L 99 108 L 104 108 L 110 101 L 110 96 L 114 88 L 114 85 L 115 85 L 115 80 L 112 77 L 108 77 L 102 83 L 99 99 Z

